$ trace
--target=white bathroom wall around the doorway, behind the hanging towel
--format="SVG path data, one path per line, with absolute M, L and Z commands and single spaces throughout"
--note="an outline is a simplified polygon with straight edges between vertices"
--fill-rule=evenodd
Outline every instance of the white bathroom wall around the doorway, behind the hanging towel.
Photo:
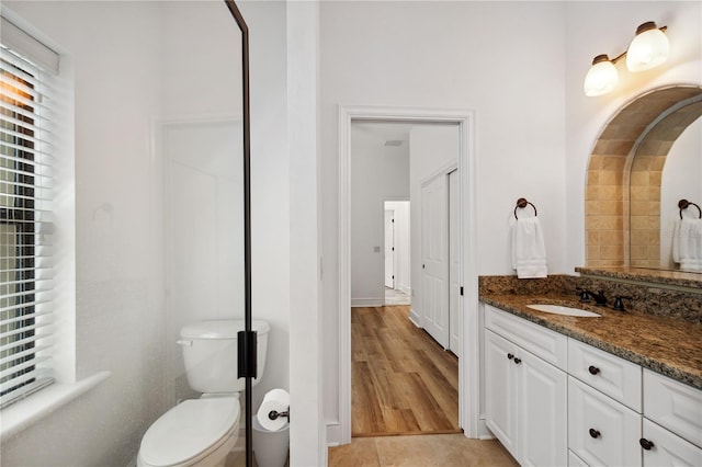
M 525 196 L 543 209 L 553 270 L 563 272 L 565 238 L 555 232 L 565 228 L 565 29 L 564 5 L 551 2 L 322 2 L 320 10 L 325 405 L 336 421 L 338 105 L 475 110 L 473 261 L 482 274 L 511 273 L 507 219 Z M 516 39 L 524 24 L 537 26 Z

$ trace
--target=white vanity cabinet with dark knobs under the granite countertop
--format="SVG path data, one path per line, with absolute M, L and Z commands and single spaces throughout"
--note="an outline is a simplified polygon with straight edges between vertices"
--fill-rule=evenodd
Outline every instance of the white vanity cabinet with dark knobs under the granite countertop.
M 485 389 L 521 465 L 702 467 L 702 390 L 487 304 Z

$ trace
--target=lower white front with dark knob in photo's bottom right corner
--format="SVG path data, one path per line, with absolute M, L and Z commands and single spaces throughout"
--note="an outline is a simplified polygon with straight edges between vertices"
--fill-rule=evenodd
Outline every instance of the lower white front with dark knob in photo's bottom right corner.
M 650 443 L 644 448 L 644 467 L 702 466 L 701 448 L 646 419 L 643 440 Z

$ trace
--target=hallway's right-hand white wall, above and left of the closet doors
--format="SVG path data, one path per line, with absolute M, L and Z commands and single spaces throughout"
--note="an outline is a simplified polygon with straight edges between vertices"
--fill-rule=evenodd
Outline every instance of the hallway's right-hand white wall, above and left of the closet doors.
M 437 175 L 445 175 L 458 163 L 458 125 L 416 125 L 409 133 L 412 304 L 410 316 L 421 324 L 422 251 L 421 186 Z

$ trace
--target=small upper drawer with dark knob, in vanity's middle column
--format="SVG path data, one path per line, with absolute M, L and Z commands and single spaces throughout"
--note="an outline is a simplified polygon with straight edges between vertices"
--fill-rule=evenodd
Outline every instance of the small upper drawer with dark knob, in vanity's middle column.
M 641 372 L 639 365 L 568 339 L 568 374 L 639 413 Z

